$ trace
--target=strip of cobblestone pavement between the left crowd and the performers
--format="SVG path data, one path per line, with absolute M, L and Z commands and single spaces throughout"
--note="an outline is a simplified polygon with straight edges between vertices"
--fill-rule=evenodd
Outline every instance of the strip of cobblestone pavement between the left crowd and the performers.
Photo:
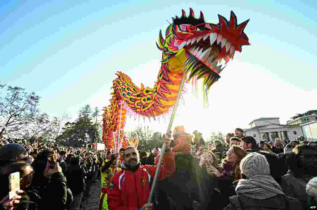
M 85 201 L 81 201 L 81 210 L 99 210 L 100 182 L 93 183 L 90 188 L 91 196 Z

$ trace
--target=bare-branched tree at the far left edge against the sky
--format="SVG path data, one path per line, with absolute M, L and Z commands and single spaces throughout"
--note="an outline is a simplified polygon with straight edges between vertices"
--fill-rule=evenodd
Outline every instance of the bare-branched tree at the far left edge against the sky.
M 13 138 L 30 138 L 46 133 L 48 116 L 38 108 L 40 97 L 22 87 L 0 84 L 0 136 L 5 133 Z

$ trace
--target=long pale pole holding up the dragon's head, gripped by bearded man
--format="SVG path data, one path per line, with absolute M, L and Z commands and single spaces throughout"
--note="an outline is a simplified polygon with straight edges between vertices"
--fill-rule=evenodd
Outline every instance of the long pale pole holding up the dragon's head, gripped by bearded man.
M 173 112 L 172 112 L 172 115 L 171 115 L 171 118 L 170 118 L 170 123 L 168 124 L 168 127 L 167 127 L 167 133 L 169 133 L 169 131 L 172 128 L 172 124 L 173 124 L 174 117 L 175 117 L 175 114 L 176 114 L 176 109 L 178 107 L 178 101 L 179 101 L 179 98 L 180 98 L 180 95 L 182 93 L 183 86 L 184 86 L 184 79 L 185 79 L 185 74 L 183 74 L 182 80 L 180 82 L 180 86 L 178 88 L 178 94 L 177 94 L 177 98 L 176 98 L 176 101 L 175 101 L 175 104 L 174 104 Z M 166 143 L 163 143 L 162 150 L 161 150 L 161 153 L 160 153 L 160 156 L 159 156 L 159 162 L 158 162 L 158 165 L 156 167 L 155 176 L 154 176 L 154 179 L 153 179 L 151 192 L 150 192 L 150 195 L 149 195 L 149 200 L 147 201 L 148 203 L 152 203 L 152 197 L 153 197 L 154 189 L 155 189 L 158 177 L 159 177 L 159 171 L 161 170 L 161 164 L 162 164 L 162 160 L 163 160 L 163 157 L 164 157 L 166 146 L 167 146 Z

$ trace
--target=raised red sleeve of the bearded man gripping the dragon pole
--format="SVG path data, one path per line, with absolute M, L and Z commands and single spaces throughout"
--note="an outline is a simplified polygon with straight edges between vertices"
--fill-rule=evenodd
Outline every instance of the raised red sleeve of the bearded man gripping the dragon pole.
M 159 157 L 157 158 L 159 159 Z M 151 177 L 154 179 L 156 165 L 144 165 L 144 168 L 149 172 Z M 175 158 L 174 153 L 165 153 L 163 158 L 163 165 L 161 166 L 161 170 L 159 171 L 159 180 L 170 177 L 175 172 Z

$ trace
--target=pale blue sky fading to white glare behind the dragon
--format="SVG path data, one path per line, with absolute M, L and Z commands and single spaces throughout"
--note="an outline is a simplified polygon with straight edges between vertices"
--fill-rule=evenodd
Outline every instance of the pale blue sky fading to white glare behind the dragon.
M 245 33 L 251 46 L 236 53 L 213 85 L 210 108 L 203 110 L 202 99 L 190 93 L 174 125 L 201 129 L 207 137 L 247 128 L 259 117 L 281 117 L 285 124 L 296 113 L 316 109 L 314 1 L 43 2 L 2 3 L 0 69 L 2 82 L 36 92 L 50 115 L 66 111 L 75 117 L 85 104 L 108 105 L 117 70 L 152 87 L 160 66 L 159 29 L 189 7 L 212 23 L 218 23 L 217 14 L 229 18 L 230 10 L 238 23 L 250 19 Z M 129 119 L 126 127 L 136 124 Z

